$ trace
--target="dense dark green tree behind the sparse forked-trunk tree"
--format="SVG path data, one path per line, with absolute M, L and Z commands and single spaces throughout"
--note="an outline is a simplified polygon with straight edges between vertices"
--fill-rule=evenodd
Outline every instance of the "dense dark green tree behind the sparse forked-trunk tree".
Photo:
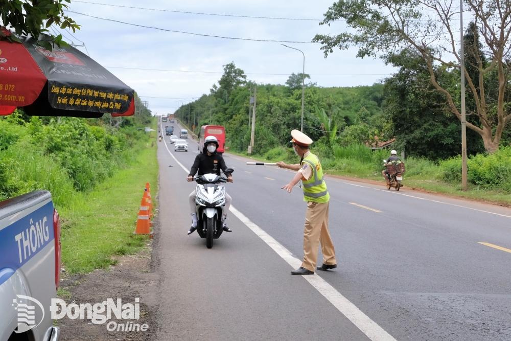
M 417 53 L 402 51 L 388 62 L 400 68 L 384 85 L 384 111 L 394 128 L 397 147 L 394 149 L 434 161 L 459 154 L 460 122 L 451 119 L 442 94 L 429 81 L 424 59 Z M 451 77 L 440 67 L 436 68 L 435 76 L 444 84 Z M 467 139 L 469 154 L 484 151 L 476 132 L 467 131 Z

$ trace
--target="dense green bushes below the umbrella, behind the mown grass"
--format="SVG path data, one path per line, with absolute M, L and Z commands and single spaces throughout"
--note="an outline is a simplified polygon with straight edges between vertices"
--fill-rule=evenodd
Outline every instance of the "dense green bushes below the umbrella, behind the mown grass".
M 67 117 L 44 122 L 0 119 L 0 199 L 45 189 L 64 204 L 130 164 L 147 143 L 136 126 L 113 129 L 101 120 Z

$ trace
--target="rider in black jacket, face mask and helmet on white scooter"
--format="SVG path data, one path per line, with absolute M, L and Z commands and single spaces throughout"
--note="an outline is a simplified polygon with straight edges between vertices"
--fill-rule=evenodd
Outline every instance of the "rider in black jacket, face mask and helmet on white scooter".
M 223 160 L 222 155 L 216 152 L 217 148 L 218 139 L 212 135 L 206 136 L 204 139 L 204 147 L 202 149 L 202 153 L 195 156 L 195 161 L 192 165 L 192 169 L 190 170 L 190 174 L 188 174 L 187 181 L 193 181 L 193 177 L 197 171 L 198 175 L 208 173 L 220 175 L 220 170 L 225 171 L 227 166 L 225 166 L 225 161 Z M 227 181 L 232 183 L 233 175 L 227 174 Z M 225 232 L 233 232 L 233 230 L 229 229 L 225 223 L 231 200 L 232 198 L 230 195 L 225 192 L 225 208 L 222 214 L 222 229 Z M 195 212 L 195 189 L 192 191 L 192 193 L 190 193 L 188 201 L 190 203 L 190 210 L 192 212 L 192 227 L 190 230 L 188 230 L 188 234 L 190 235 L 197 229 L 197 213 Z

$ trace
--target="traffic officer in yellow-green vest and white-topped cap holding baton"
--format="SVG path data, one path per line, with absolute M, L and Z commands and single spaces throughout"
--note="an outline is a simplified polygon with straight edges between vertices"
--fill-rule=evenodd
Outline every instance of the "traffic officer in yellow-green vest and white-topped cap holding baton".
M 323 264 L 318 270 L 328 270 L 337 267 L 335 249 L 328 232 L 328 207 L 330 194 L 323 180 L 323 169 L 316 155 L 310 152 L 312 140 L 303 132 L 293 129 L 291 142 L 296 155 L 301 157 L 300 163 L 287 165 L 277 162 L 277 166 L 296 170 L 289 184 L 282 188 L 291 193 L 293 187 L 301 180 L 304 191 L 304 201 L 307 202 L 304 229 L 304 260 L 301 266 L 291 271 L 292 275 L 313 275 L 318 256 L 318 244 L 321 243 Z

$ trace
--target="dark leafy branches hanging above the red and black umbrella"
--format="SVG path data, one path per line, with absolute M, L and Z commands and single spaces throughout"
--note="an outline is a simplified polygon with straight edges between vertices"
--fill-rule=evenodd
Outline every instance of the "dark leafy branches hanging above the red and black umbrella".
M 2 26 L 12 27 L 17 35 L 31 36 L 38 40 L 41 33 L 48 32 L 47 28 L 51 25 L 58 25 L 61 29 L 69 28 L 73 32 L 80 29 L 75 20 L 64 14 L 67 5 L 71 0 L 39 0 L 39 1 L 21 1 L 21 0 L 0 0 L 0 18 Z M 44 27 L 44 28 L 43 28 Z M 62 35 L 54 36 L 48 34 L 50 41 L 57 46 L 62 44 Z M 0 30 L 0 38 L 6 37 Z M 17 40 L 16 37 L 7 36 L 10 40 Z M 52 44 L 47 39 L 38 40 L 38 43 L 49 50 Z

